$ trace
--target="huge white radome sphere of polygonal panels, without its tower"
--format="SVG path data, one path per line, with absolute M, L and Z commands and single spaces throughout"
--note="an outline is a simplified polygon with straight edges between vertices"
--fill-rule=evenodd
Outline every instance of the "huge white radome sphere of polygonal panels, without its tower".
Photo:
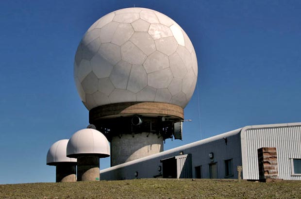
M 155 101 L 185 107 L 198 76 L 193 45 L 171 18 L 125 8 L 97 20 L 76 51 L 74 78 L 88 110 Z

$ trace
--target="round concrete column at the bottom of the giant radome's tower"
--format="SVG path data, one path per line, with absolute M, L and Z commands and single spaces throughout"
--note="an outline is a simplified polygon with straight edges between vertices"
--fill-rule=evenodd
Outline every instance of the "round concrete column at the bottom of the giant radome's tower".
M 163 151 L 163 137 L 153 133 L 122 134 L 111 141 L 111 166 Z

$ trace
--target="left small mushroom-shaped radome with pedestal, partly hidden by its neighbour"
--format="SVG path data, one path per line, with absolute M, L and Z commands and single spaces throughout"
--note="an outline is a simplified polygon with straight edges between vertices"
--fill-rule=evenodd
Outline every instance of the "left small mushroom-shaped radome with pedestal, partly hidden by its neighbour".
M 56 182 L 76 182 L 76 159 L 66 156 L 68 141 L 55 142 L 47 153 L 47 165 L 56 166 Z

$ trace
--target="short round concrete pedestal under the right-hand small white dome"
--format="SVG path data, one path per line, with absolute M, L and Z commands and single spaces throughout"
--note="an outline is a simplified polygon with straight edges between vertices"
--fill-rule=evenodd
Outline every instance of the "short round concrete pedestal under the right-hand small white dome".
M 79 156 L 77 158 L 77 181 L 99 181 L 100 158 L 98 156 Z

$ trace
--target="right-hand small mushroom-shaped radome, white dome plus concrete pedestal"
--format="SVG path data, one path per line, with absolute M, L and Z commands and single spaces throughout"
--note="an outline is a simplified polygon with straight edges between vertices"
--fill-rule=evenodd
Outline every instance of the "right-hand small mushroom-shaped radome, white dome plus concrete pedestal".
M 108 140 L 94 129 L 74 133 L 67 144 L 67 157 L 77 158 L 77 181 L 99 181 L 100 158 L 109 156 Z

